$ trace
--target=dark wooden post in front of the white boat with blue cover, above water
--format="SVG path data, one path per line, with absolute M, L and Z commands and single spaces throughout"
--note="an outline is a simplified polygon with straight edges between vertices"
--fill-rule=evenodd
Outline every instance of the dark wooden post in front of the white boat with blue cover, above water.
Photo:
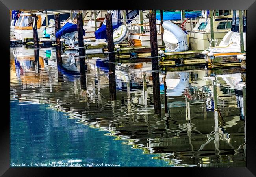
M 112 26 L 112 14 L 107 13 L 105 15 L 106 19 L 106 30 L 107 30 L 107 41 L 108 41 L 108 52 L 113 52 L 114 49 L 114 39 L 113 39 L 113 26 Z M 109 53 L 109 62 L 115 61 L 115 53 Z

